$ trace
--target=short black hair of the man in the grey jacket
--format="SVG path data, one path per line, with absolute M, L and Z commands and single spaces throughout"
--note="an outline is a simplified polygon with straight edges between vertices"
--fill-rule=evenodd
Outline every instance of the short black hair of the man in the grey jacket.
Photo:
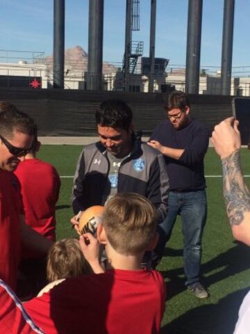
M 131 108 L 122 100 L 106 100 L 96 111 L 97 124 L 102 127 L 126 129 L 133 119 Z

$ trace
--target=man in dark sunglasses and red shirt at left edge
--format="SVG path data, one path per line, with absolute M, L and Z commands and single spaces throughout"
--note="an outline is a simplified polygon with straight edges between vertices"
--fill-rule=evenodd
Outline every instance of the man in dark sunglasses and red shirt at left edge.
M 19 185 L 11 173 L 30 152 L 36 126 L 11 104 L 0 103 L 0 278 L 16 289 L 20 244 L 47 253 L 52 242 L 24 223 Z

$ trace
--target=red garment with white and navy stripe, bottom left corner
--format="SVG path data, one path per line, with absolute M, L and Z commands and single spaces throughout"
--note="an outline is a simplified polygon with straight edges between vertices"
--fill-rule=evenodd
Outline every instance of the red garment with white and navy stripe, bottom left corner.
M 14 292 L 2 280 L 0 280 L 0 333 L 43 333 L 27 315 Z

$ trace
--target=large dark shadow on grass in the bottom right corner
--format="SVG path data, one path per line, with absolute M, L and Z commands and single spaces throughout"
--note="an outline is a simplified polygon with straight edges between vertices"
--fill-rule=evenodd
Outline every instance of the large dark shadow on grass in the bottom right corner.
M 161 334 L 232 334 L 242 299 L 249 291 L 241 289 L 216 304 L 201 305 L 163 326 Z

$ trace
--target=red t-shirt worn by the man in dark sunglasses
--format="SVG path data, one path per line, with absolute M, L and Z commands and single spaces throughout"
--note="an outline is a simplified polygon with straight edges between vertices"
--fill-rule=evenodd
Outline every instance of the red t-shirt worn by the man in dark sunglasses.
M 22 202 L 15 175 L 0 169 L 0 278 L 15 290 Z

